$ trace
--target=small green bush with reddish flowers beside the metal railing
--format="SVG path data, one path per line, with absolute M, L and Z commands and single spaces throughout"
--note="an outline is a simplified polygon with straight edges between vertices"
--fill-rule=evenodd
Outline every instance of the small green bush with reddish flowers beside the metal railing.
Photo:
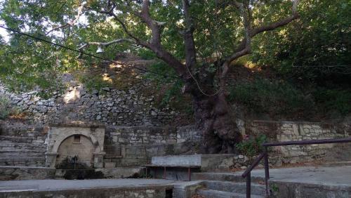
M 265 143 L 266 140 L 267 136 L 262 134 L 257 137 L 245 136 L 244 140 L 236 145 L 237 150 L 247 157 L 253 157 L 263 152 L 262 144 Z

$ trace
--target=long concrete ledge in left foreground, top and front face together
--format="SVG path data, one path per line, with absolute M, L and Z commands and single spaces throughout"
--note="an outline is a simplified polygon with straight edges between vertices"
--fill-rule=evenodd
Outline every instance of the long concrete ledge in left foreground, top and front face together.
M 35 183 L 35 185 L 32 185 Z M 0 197 L 171 197 L 169 180 L 27 180 L 0 183 Z

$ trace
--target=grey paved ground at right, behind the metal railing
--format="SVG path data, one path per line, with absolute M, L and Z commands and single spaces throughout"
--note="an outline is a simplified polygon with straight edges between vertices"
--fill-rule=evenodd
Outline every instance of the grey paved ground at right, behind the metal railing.
M 237 172 L 234 174 L 241 174 Z M 253 177 L 265 177 L 264 169 L 251 172 Z M 294 167 L 288 169 L 270 169 L 270 180 L 291 183 L 312 183 L 318 185 L 338 185 L 351 187 L 351 166 L 336 167 Z

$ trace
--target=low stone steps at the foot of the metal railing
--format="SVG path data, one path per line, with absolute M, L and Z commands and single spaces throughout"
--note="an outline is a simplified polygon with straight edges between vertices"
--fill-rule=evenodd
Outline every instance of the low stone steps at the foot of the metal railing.
M 228 173 L 193 173 L 193 180 L 203 180 L 204 188 L 199 188 L 197 194 L 206 198 L 245 198 L 246 183 L 239 177 Z M 265 185 L 251 183 L 251 197 L 265 197 Z

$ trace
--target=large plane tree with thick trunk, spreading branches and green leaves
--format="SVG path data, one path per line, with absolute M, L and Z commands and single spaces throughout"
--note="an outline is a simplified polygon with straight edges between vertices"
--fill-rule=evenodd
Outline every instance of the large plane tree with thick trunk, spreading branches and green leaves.
M 234 152 L 241 140 L 226 101 L 232 62 L 251 53 L 257 34 L 298 18 L 298 0 L 6 0 L 1 22 L 79 51 L 152 51 L 192 95 L 202 152 Z M 54 90 L 55 74 L 91 57 L 19 34 L 2 41 L 1 81 Z M 58 62 L 60 64 L 58 64 Z M 53 87 L 52 89 L 50 89 Z

